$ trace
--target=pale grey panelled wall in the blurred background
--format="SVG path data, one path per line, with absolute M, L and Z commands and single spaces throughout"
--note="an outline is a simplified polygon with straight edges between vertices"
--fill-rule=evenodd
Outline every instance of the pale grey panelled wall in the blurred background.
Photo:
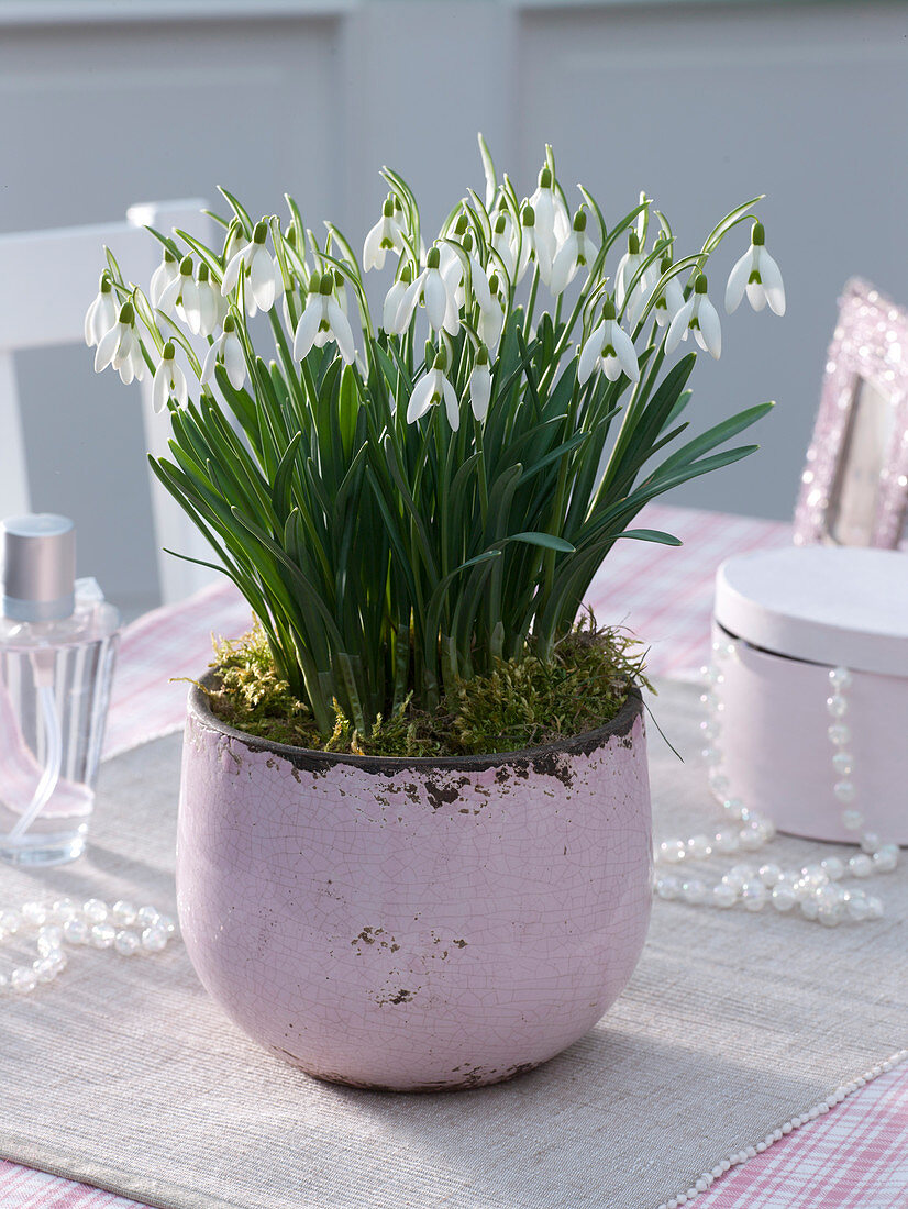
M 293 192 L 357 243 L 382 163 L 430 225 L 479 185 L 478 129 L 524 192 L 546 140 L 607 219 L 646 189 L 682 248 L 765 191 L 788 313 L 725 323 L 694 415 L 779 407 L 760 453 L 673 499 L 785 517 L 838 290 L 860 273 L 908 302 L 907 69 L 901 2 L 0 0 L 0 232 L 225 184 L 256 213 Z M 719 255 L 717 301 L 745 243 Z M 80 573 L 154 603 L 139 391 L 96 378 L 87 349 L 22 354 L 17 377 L 33 507 L 75 517 Z

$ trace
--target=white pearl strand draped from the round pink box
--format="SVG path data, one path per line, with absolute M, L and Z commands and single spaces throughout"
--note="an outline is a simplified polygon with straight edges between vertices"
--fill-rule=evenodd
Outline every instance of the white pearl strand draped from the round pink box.
M 756 852 L 776 832 L 771 818 L 748 809 L 740 798 L 727 797 L 730 786 L 722 770 L 723 753 L 719 745 L 723 711 L 719 688 L 724 681 L 719 665 L 727 659 L 738 658 L 735 643 L 713 642 L 712 656 L 710 666 L 702 669 L 706 688 L 700 701 L 706 707 L 706 718 L 700 723 L 700 731 L 706 746 L 701 756 L 709 768 L 710 788 L 722 798 L 722 809 L 730 826 L 712 835 L 704 833 L 689 839 L 663 840 L 655 846 L 657 866 L 679 866 L 738 851 Z M 890 873 L 898 864 L 898 845 L 883 843 L 875 833 L 862 831 L 864 817 L 854 804 L 857 791 L 850 777 L 855 760 L 848 751 L 851 730 L 843 721 L 848 713 L 846 693 L 850 687 L 851 672 L 846 667 L 834 667 L 829 672 L 831 694 L 826 700 L 826 710 L 831 722 L 827 734 L 833 748 L 832 792 L 842 806 L 843 827 L 850 832 L 862 832 L 861 851 L 848 862 L 829 856 L 819 864 L 806 864 L 799 869 L 782 869 L 771 863 L 759 867 L 735 864 L 713 885 L 701 878 L 657 872 L 653 889 L 660 898 L 679 898 L 694 906 L 723 909 L 741 903 L 751 912 L 759 912 L 768 903 L 777 912 L 791 912 L 797 907 L 804 919 L 817 920 L 827 927 L 834 927 L 843 920 L 860 922 L 883 915 L 883 902 L 875 895 L 838 885 L 846 875 L 867 878 L 874 872 Z

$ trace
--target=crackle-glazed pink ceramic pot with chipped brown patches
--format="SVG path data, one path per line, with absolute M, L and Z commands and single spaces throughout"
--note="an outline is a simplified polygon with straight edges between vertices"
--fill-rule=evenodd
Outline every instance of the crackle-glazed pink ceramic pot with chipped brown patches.
M 190 693 L 177 891 L 206 989 L 319 1078 L 510 1078 L 617 999 L 649 921 L 642 702 L 563 744 L 337 756 L 220 723 Z

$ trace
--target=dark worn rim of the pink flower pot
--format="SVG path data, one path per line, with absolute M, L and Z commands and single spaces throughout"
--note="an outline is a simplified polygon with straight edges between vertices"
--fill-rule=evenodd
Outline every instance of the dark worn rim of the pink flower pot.
M 588 756 L 601 747 L 607 739 L 623 739 L 630 745 L 630 733 L 634 723 L 643 712 L 643 698 L 636 684 L 631 686 L 627 698 L 618 713 L 605 727 L 596 730 L 588 730 L 583 735 L 573 735 L 569 739 L 560 739 L 555 742 L 542 744 L 538 747 L 524 747 L 520 751 L 493 752 L 488 756 L 355 756 L 352 752 L 324 752 L 312 747 L 294 747 L 290 744 L 278 744 L 270 739 L 261 739 L 259 735 L 247 734 L 236 727 L 227 725 L 226 722 L 214 713 L 203 687 L 213 681 L 214 676 L 208 672 L 201 682 L 192 684 L 189 693 L 190 715 L 198 722 L 216 730 L 230 739 L 237 739 L 250 751 L 271 752 L 282 759 L 289 760 L 297 769 L 310 771 L 322 770 L 334 764 L 351 764 L 370 773 L 400 773 L 407 768 L 441 768 L 455 769 L 462 773 L 478 773 L 498 764 L 538 764 L 540 760 L 551 759 L 557 756 Z

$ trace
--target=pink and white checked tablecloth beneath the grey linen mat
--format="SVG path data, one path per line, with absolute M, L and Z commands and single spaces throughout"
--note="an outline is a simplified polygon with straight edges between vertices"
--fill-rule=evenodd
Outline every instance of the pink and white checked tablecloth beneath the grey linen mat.
M 650 505 L 641 522 L 675 533 L 684 545 L 619 543 L 589 603 L 598 621 L 624 624 L 647 640 L 654 676 L 689 677 L 709 652 L 719 562 L 747 550 L 788 545 L 791 527 L 660 505 Z M 186 696 L 179 677 L 196 678 L 206 669 L 212 634 L 235 637 L 248 629 L 249 619 L 248 606 L 224 583 L 128 626 L 105 754 L 179 729 Z M 129 1205 L 134 1209 L 135 1202 L 0 1159 L 0 1209 Z M 602 1209 L 620 1207 L 603 1202 Z M 696 1209 L 908 1209 L 908 1063 L 723 1175 L 696 1198 Z

